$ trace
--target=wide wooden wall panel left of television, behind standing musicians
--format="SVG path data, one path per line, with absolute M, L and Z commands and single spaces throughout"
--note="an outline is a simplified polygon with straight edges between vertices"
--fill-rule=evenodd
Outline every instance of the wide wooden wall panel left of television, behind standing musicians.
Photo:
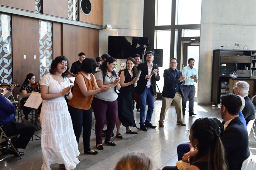
M 63 24 L 63 55 L 70 65 L 78 60 L 80 52 L 94 59 L 99 56 L 99 30 Z

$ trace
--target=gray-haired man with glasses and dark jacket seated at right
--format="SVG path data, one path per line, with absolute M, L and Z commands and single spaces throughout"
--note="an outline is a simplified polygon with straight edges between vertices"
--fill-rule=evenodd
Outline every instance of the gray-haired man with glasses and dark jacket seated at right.
M 249 87 L 250 85 L 245 81 L 236 82 L 236 86 L 234 87 L 235 94 L 240 95 L 242 98 L 244 98 L 245 101 L 245 106 L 242 110 L 242 113 L 244 115 L 246 124 L 250 120 L 255 119 L 255 107 L 251 102 L 250 98 L 248 97 Z

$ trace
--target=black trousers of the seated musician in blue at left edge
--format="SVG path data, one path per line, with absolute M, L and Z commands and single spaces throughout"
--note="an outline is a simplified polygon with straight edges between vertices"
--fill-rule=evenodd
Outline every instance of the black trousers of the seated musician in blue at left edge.
M 29 143 L 30 138 L 36 131 L 35 125 L 29 123 L 16 123 L 15 119 L 2 126 L 2 129 L 7 136 L 20 135 L 18 138 L 11 140 L 13 146 L 16 149 L 25 149 Z

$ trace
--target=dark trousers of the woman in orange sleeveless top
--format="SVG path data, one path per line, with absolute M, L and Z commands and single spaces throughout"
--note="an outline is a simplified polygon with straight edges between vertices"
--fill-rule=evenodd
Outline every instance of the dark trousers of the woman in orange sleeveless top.
M 68 106 L 68 111 L 71 116 L 73 129 L 76 137 L 77 144 L 82 133 L 83 127 L 83 150 L 84 152 L 90 151 L 90 137 L 91 137 L 91 123 L 92 111 L 91 109 L 83 110 Z

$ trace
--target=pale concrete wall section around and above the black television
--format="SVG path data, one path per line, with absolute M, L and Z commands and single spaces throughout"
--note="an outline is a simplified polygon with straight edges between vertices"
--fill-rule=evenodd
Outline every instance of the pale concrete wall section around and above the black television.
M 100 56 L 107 53 L 108 35 L 143 36 L 143 7 L 144 0 L 104 0 L 103 28 L 111 24 L 114 30 L 100 30 Z

